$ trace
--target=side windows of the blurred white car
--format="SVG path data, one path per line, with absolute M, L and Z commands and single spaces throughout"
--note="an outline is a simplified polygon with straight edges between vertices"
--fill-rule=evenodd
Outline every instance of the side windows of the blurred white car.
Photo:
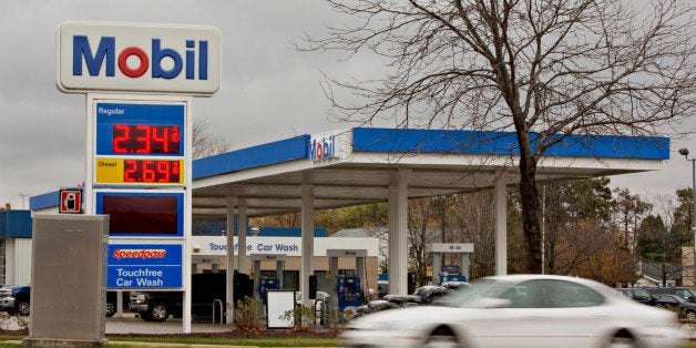
M 521 283 L 501 295 L 513 308 L 590 307 L 604 303 L 597 291 L 575 283 L 536 279 Z

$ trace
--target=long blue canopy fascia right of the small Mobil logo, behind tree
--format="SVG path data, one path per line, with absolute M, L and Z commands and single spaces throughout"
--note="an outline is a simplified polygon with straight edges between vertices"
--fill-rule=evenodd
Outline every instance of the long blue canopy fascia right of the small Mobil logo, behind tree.
M 554 135 L 561 136 L 561 135 Z M 539 134 L 532 133 L 532 147 Z M 352 131 L 354 152 L 518 155 L 512 132 L 365 129 Z M 533 150 L 532 150 L 533 151 Z M 545 156 L 669 160 L 669 139 L 657 136 L 569 135 Z

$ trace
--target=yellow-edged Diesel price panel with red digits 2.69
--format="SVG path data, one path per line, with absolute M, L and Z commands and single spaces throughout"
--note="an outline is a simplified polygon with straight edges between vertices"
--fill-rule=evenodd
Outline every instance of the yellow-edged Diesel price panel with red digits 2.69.
M 98 157 L 94 167 L 98 184 L 184 184 L 183 160 Z

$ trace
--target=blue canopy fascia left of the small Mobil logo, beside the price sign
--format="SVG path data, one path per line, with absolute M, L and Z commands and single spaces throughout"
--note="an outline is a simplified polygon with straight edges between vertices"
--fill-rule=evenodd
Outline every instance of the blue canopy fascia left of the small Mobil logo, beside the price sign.
M 193 180 L 307 158 L 309 135 L 299 135 L 193 161 Z

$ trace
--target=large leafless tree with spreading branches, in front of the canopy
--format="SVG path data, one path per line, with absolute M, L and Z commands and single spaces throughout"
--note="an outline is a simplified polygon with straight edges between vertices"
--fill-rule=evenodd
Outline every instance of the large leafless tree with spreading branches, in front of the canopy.
M 336 117 L 516 133 L 526 272 L 541 270 L 536 166 L 551 146 L 676 132 L 695 109 L 688 1 L 327 2 L 350 20 L 300 50 L 372 52 L 387 68 L 379 80 L 327 76 Z

